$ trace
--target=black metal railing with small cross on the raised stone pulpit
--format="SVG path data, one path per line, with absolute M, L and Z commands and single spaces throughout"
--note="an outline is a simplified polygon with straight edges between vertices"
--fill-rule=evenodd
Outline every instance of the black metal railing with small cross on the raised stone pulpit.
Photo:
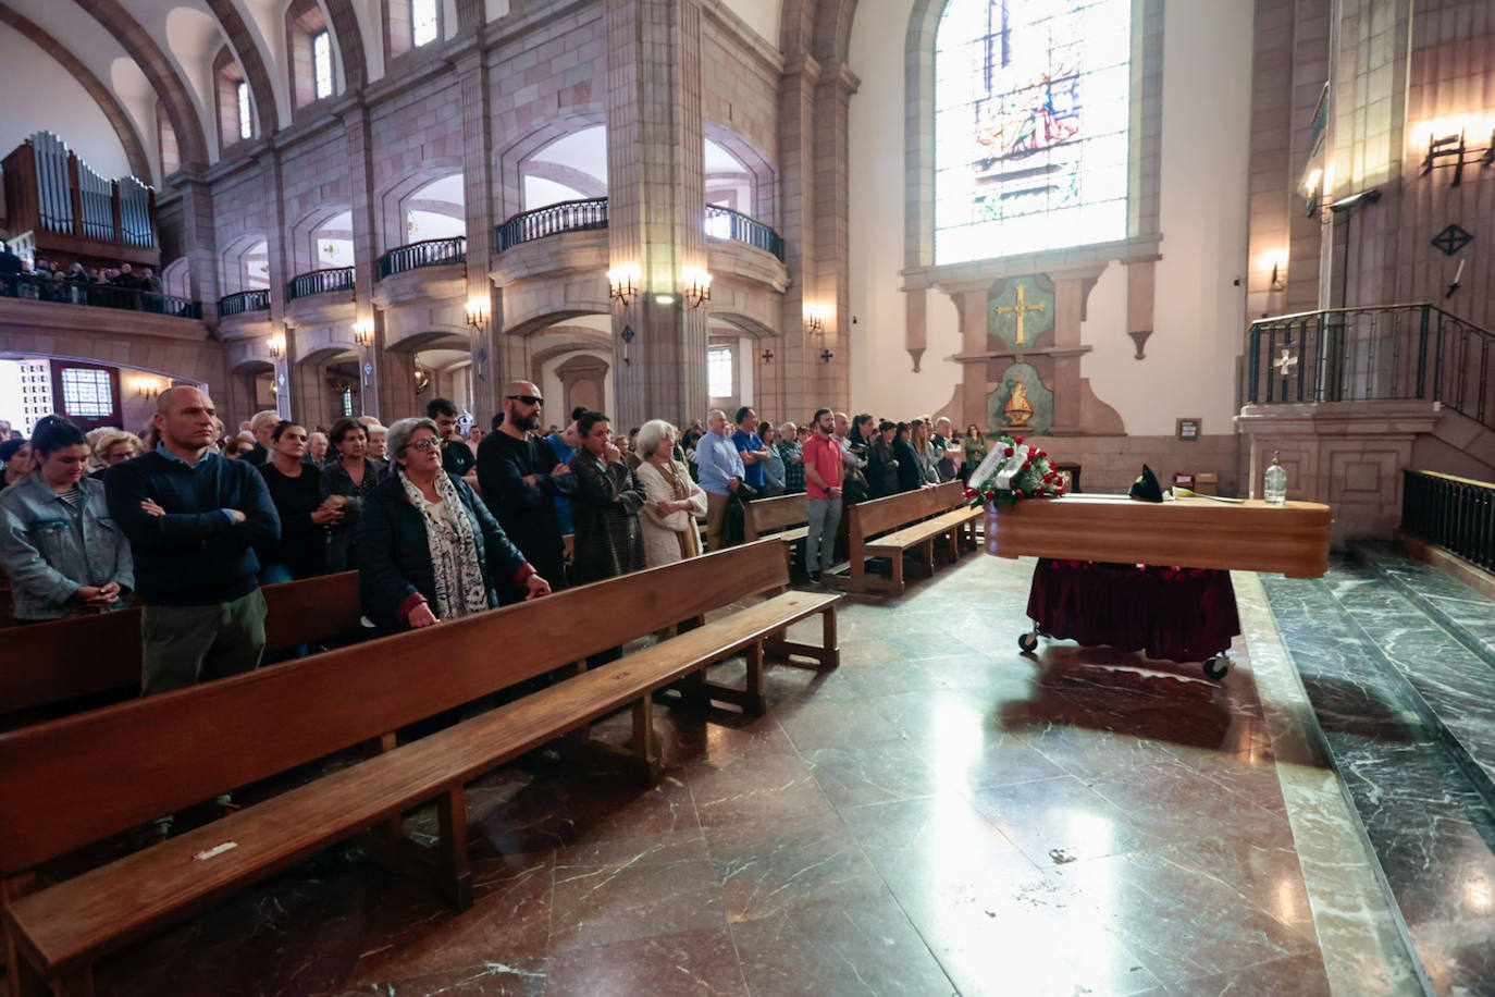
M 1331 308 L 1251 323 L 1247 402 L 1441 402 L 1495 426 L 1495 333 L 1437 305 Z

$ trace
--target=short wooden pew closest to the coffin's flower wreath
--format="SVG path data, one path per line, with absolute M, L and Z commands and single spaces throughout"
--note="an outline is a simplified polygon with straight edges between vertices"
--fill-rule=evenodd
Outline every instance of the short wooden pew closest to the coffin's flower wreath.
M 852 505 L 848 510 L 848 587 L 854 592 L 903 595 L 904 552 L 919 552 L 924 562 L 921 567 L 933 574 L 934 540 L 948 537 L 951 559 L 960 558 L 961 549 L 976 549 L 976 523 L 982 516 L 982 510 L 966 505 L 966 489 L 960 481 Z M 867 574 L 867 558 L 888 558 L 893 562 L 893 577 Z

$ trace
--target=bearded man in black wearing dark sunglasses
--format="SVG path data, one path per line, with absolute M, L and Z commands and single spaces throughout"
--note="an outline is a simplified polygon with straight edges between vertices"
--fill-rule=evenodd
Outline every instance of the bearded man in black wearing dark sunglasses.
M 576 477 L 550 444 L 532 433 L 544 399 L 532 381 L 504 386 L 504 422 L 477 448 L 483 501 L 504 532 L 555 590 L 565 587 L 565 547 L 556 522 L 556 496 L 576 492 Z M 516 602 L 522 592 L 505 592 Z

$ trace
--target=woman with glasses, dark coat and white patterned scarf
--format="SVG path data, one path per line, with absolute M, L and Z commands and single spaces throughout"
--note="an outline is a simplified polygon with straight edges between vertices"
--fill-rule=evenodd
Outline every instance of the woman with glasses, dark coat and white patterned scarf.
M 498 605 L 508 583 L 549 595 L 472 487 L 441 468 L 432 419 L 389 427 L 390 472 L 357 525 L 363 611 L 384 632 L 432 626 Z

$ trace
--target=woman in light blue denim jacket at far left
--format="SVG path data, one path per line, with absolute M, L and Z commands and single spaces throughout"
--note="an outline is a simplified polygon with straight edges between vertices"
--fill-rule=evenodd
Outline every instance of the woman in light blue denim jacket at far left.
M 57 416 L 36 425 L 36 471 L 0 493 L 0 568 L 15 619 L 117 610 L 135 586 L 130 543 L 109 517 L 103 481 L 85 477 L 88 439 Z

